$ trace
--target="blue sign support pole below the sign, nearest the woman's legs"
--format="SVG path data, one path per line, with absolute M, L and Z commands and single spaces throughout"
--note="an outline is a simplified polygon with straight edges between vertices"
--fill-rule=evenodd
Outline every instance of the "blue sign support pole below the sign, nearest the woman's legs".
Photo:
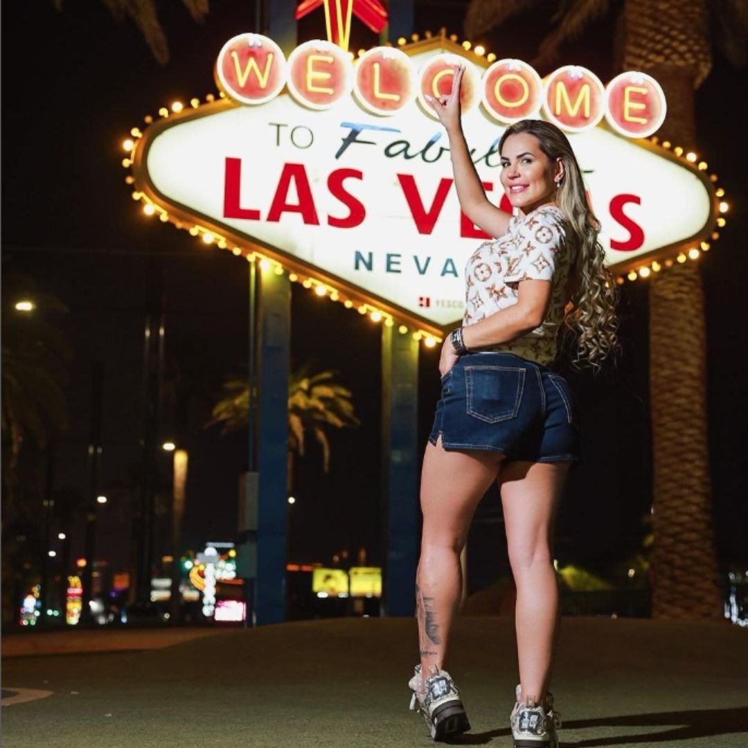
M 384 613 L 412 616 L 418 545 L 418 342 L 382 328 L 382 488 L 387 507 Z

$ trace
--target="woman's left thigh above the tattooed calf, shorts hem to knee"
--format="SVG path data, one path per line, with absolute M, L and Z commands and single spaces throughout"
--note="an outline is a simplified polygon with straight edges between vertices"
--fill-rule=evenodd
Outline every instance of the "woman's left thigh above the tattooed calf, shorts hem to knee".
M 499 472 L 502 456 L 427 444 L 421 472 L 423 542 L 461 550 L 476 506 Z

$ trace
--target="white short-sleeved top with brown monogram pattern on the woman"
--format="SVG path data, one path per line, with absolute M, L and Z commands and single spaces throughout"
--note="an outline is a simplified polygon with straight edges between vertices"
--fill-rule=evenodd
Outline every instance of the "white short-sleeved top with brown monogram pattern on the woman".
M 566 280 L 573 259 L 565 251 L 564 236 L 561 209 L 545 205 L 528 215 L 513 215 L 506 233 L 484 242 L 468 260 L 464 325 L 516 304 L 519 281 L 553 284 L 548 313 L 541 325 L 509 343 L 493 346 L 491 351 L 514 353 L 543 366 L 556 358 L 556 336 L 568 301 Z

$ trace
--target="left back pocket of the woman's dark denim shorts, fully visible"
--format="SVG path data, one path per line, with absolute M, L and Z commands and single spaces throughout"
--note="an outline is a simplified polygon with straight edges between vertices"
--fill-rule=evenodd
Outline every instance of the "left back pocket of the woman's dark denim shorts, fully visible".
M 517 417 L 525 371 L 518 367 L 465 367 L 468 415 L 485 423 Z

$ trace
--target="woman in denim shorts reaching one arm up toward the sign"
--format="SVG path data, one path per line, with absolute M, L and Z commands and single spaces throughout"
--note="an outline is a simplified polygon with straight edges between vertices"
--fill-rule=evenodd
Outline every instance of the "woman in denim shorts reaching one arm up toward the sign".
M 420 664 L 409 684 L 411 708 L 435 740 L 470 729 L 442 666 L 462 592 L 460 553 L 479 500 L 497 480 L 517 588 L 512 735 L 515 747 L 555 748 L 548 681 L 558 590 L 551 542 L 579 439 L 568 384 L 548 366 L 562 325 L 576 334 L 577 361 L 598 368 L 613 352 L 616 285 L 603 265 L 579 165 L 554 125 L 522 120 L 506 129 L 500 179 L 514 215 L 488 201 L 462 134 L 462 73 L 456 69 L 450 96 L 429 103 L 447 129 L 462 211 L 499 238 L 468 260 L 463 326 L 441 349 L 442 393 L 421 476 Z

